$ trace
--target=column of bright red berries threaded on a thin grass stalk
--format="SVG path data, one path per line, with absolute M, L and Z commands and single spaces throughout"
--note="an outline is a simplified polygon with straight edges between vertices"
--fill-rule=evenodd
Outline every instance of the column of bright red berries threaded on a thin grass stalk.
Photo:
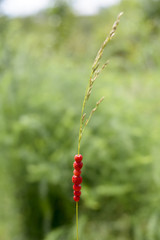
M 80 196 L 81 196 L 81 183 L 82 183 L 82 177 L 81 175 L 81 168 L 83 167 L 83 163 L 82 163 L 82 155 L 78 154 L 74 156 L 74 160 L 75 162 L 73 163 L 73 167 L 74 167 L 74 175 L 72 177 L 72 182 L 74 183 L 73 185 L 73 190 L 74 190 L 74 201 L 78 202 L 80 200 Z

